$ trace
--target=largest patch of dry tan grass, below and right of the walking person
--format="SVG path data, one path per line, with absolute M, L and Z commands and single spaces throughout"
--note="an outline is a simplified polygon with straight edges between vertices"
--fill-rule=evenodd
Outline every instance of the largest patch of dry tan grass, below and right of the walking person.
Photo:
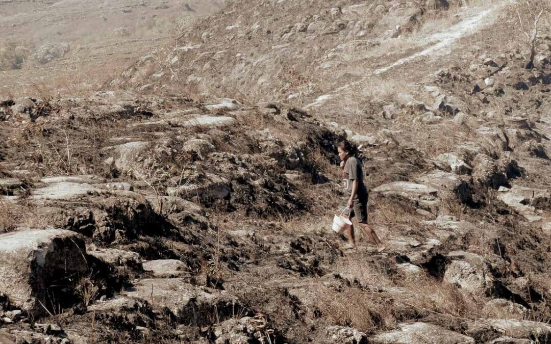
M 339 291 L 318 288 L 316 293 L 322 317 L 336 325 L 373 333 L 413 319 L 450 323 L 474 320 L 486 301 L 431 276 L 398 279 L 395 283 L 383 268 L 361 261 L 347 263 L 341 276 L 351 286 Z

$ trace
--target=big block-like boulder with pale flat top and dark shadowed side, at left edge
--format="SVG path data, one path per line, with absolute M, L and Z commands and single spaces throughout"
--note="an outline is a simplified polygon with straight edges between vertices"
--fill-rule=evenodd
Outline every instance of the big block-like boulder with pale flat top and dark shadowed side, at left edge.
M 0 292 L 31 316 L 46 313 L 57 288 L 87 271 L 85 252 L 83 239 L 72 231 L 25 229 L 2 234 Z

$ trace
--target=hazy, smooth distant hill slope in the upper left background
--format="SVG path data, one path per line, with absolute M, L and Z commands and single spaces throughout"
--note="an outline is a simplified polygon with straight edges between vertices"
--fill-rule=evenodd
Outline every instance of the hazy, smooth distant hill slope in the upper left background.
M 0 2 L 0 93 L 25 95 L 33 84 L 53 94 L 96 89 L 152 46 L 165 45 L 176 28 L 216 12 L 220 4 L 219 0 Z

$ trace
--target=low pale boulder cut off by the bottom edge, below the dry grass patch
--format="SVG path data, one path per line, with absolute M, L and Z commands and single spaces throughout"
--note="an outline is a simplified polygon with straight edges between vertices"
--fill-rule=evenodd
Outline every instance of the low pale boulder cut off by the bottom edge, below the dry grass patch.
M 474 344 L 474 339 L 427 323 L 399 324 L 398 329 L 373 336 L 371 343 L 396 344 Z

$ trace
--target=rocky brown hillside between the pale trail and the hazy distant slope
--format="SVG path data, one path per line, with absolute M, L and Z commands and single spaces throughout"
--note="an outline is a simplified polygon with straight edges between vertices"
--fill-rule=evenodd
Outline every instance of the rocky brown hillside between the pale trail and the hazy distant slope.
M 174 49 L 133 65 L 111 85 L 195 84 L 209 94 L 305 105 L 316 94 L 417 51 L 433 40 L 431 34 L 457 23 L 460 4 L 232 0 L 182 31 Z

